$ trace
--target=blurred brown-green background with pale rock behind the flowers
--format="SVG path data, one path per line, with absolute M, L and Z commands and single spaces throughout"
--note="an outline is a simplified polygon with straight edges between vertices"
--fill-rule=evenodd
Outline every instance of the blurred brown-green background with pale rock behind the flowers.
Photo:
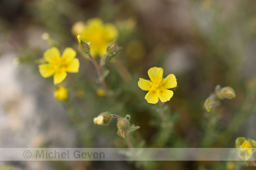
M 109 63 L 109 91 L 101 88 L 91 62 L 77 50 L 72 25 L 99 17 L 114 24 L 123 47 Z M 49 33 L 60 52 L 77 51 L 79 73 L 64 85 L 66 102 L 53 97 L 53 79 L 44 79 L 35 60 L 43 57 Z M 255 0 L 0 0 L 0 148 L 122 148 L 116 122 L 93 124 L 99 113 L 131 115 L 140 126 L 137 147 L 233 148 L 237 137 L 256 139 Z M 99 60 L 99 58 L 97 59 Z M 139 77 L 162 67 L 178 82 L 164 129 L 154 105 L 144 99 Z M 125 68 L 125 69 L 124 69 Z M 203 103 L 216 85 L 230 86 L 236 98 L 214 112 Z M 156 126 L 155 126 L 156 125 Z M 231 166 L 230 166 L 231 164 Z M 1 162 L 0 170 L 252 170 L 242 162 Z

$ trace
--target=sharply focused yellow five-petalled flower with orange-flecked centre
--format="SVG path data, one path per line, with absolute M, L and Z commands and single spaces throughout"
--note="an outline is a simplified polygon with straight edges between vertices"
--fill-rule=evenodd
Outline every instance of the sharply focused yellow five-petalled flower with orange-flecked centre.
M 142 90 L 149 91 L 145 96 L 147 102 L 156 104 L 159 98 L 162 102 L 169 101 L 173 97 L 173 91 L 167 89 L 177 87 L 175 76 L 169 74 L 163 80 L 163 69 L 160 67 L 153 67 L 147 73 L 151 81 L 139 78 L 138 82 Z

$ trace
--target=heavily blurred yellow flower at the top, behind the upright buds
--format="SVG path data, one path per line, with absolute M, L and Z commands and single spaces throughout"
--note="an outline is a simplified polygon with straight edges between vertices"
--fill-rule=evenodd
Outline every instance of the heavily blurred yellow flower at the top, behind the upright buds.
M 80 34 L 82 40 L 87 43 L 90 42 L 90 54 L 93 57 L 97 55 L 104 56 L 107 45 L 118 36 L 116 26 L 111 23 L 103 24 L 101 18 L 90 18 L 84 24 L 83 29 L 81 29 L 81 26 L 82 24 L 79 22 L 79 29 L 76 29 L 75 36 Z

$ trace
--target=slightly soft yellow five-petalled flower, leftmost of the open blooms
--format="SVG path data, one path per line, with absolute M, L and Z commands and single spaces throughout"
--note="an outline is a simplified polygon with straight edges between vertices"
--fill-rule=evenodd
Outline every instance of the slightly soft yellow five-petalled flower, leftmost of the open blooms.
M 75 58 L 76 52 L 70 47 L 67 47 L 62 56 L 56 47 L 52 47 L 45 51 L 44 58 L 47 64 L 39 65 L 39 72 L 44 78 L 53 76 L 54 84 L 62 82 L 67 72 L 78 72 L 79 60 Z

